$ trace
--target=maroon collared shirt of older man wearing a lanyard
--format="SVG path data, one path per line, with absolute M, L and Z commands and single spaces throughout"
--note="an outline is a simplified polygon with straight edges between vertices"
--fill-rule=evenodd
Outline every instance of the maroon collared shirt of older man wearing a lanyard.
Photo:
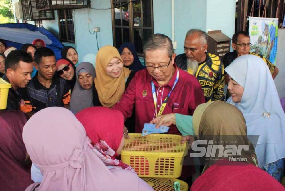
M 149 123 L 156 117 L 151 82 L 153 81 L 155 86 L 158 113 L 162 101 L 166 98 L 174 85 L 177 70 L 179 70 L 179 80 L 172 90 L 162 114 L 180 113 L 193 115 L 195 108 L 199 104 L 205 103 L 203 90 L 197 79 L 187 72 L 178 69 L 176 65 L 174 65 L 174 67 L 175 73 L 172 79 L 168 84 L 161 87 L 146 69 L 138 71 L 122 95 L 121 100 L 114 105 L 113 108 L 120 110 L 125 119 L 132 115 L 135 107 L 136 133 L 141 133 L 144 123 Z M 170 126 L 168 133 L 180 135 L 175 125 Z

